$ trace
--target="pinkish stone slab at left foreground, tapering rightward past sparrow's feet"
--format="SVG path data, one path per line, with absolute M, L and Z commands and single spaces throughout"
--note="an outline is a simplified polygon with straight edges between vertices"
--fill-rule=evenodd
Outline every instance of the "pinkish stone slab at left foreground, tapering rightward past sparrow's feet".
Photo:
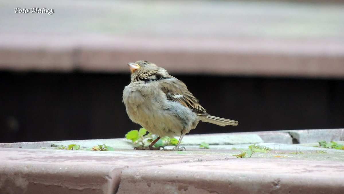
M 226 157 L 202 153 L 0 148 L 0 193 L 113 193 L 127 167 Z

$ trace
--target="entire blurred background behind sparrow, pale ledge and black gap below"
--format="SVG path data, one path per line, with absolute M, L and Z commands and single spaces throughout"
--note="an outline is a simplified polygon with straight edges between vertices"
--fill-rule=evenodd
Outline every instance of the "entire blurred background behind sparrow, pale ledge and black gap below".
M 191 134 L 344 127 L 342 0 L 0 0 L 0 142 L 139 129 L 121 98 L 137 60 L 239 121 Z

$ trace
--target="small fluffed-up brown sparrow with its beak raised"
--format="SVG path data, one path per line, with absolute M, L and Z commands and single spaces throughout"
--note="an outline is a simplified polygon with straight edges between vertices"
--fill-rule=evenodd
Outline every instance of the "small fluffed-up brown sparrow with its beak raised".
M 147 147 L 135 147 L 135 150 L 160 150 L 164 147 L 153 147 L 160 137 L 175 135 L 180 135 L 177 145 L 163 150 L 185 150 L 185 147 L 179 147 L 183 136 L 195 129 L 199 121 L 220 126 L 238 125 L 238 121 L 209 115 L 186 85 L 165 69 L 148 61 L 128 65 L 131 82 L 123 90 L 128 116 L 131 121 L 158 135 Z

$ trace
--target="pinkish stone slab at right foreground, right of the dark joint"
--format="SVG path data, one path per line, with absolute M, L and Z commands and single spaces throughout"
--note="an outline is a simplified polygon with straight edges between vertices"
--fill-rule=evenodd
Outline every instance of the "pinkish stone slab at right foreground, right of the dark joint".
M 118 193 L 343 193 L 344 162 L 228 159 L 123 170 Z

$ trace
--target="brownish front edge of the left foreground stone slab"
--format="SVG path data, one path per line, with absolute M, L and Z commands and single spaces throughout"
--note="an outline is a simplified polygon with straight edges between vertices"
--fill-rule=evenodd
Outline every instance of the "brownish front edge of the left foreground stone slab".
M 92 168 L 93 170 L 88 170 Z M 0 193 L 111 193 L 122 169 L 104 166 L 1 163 Z

